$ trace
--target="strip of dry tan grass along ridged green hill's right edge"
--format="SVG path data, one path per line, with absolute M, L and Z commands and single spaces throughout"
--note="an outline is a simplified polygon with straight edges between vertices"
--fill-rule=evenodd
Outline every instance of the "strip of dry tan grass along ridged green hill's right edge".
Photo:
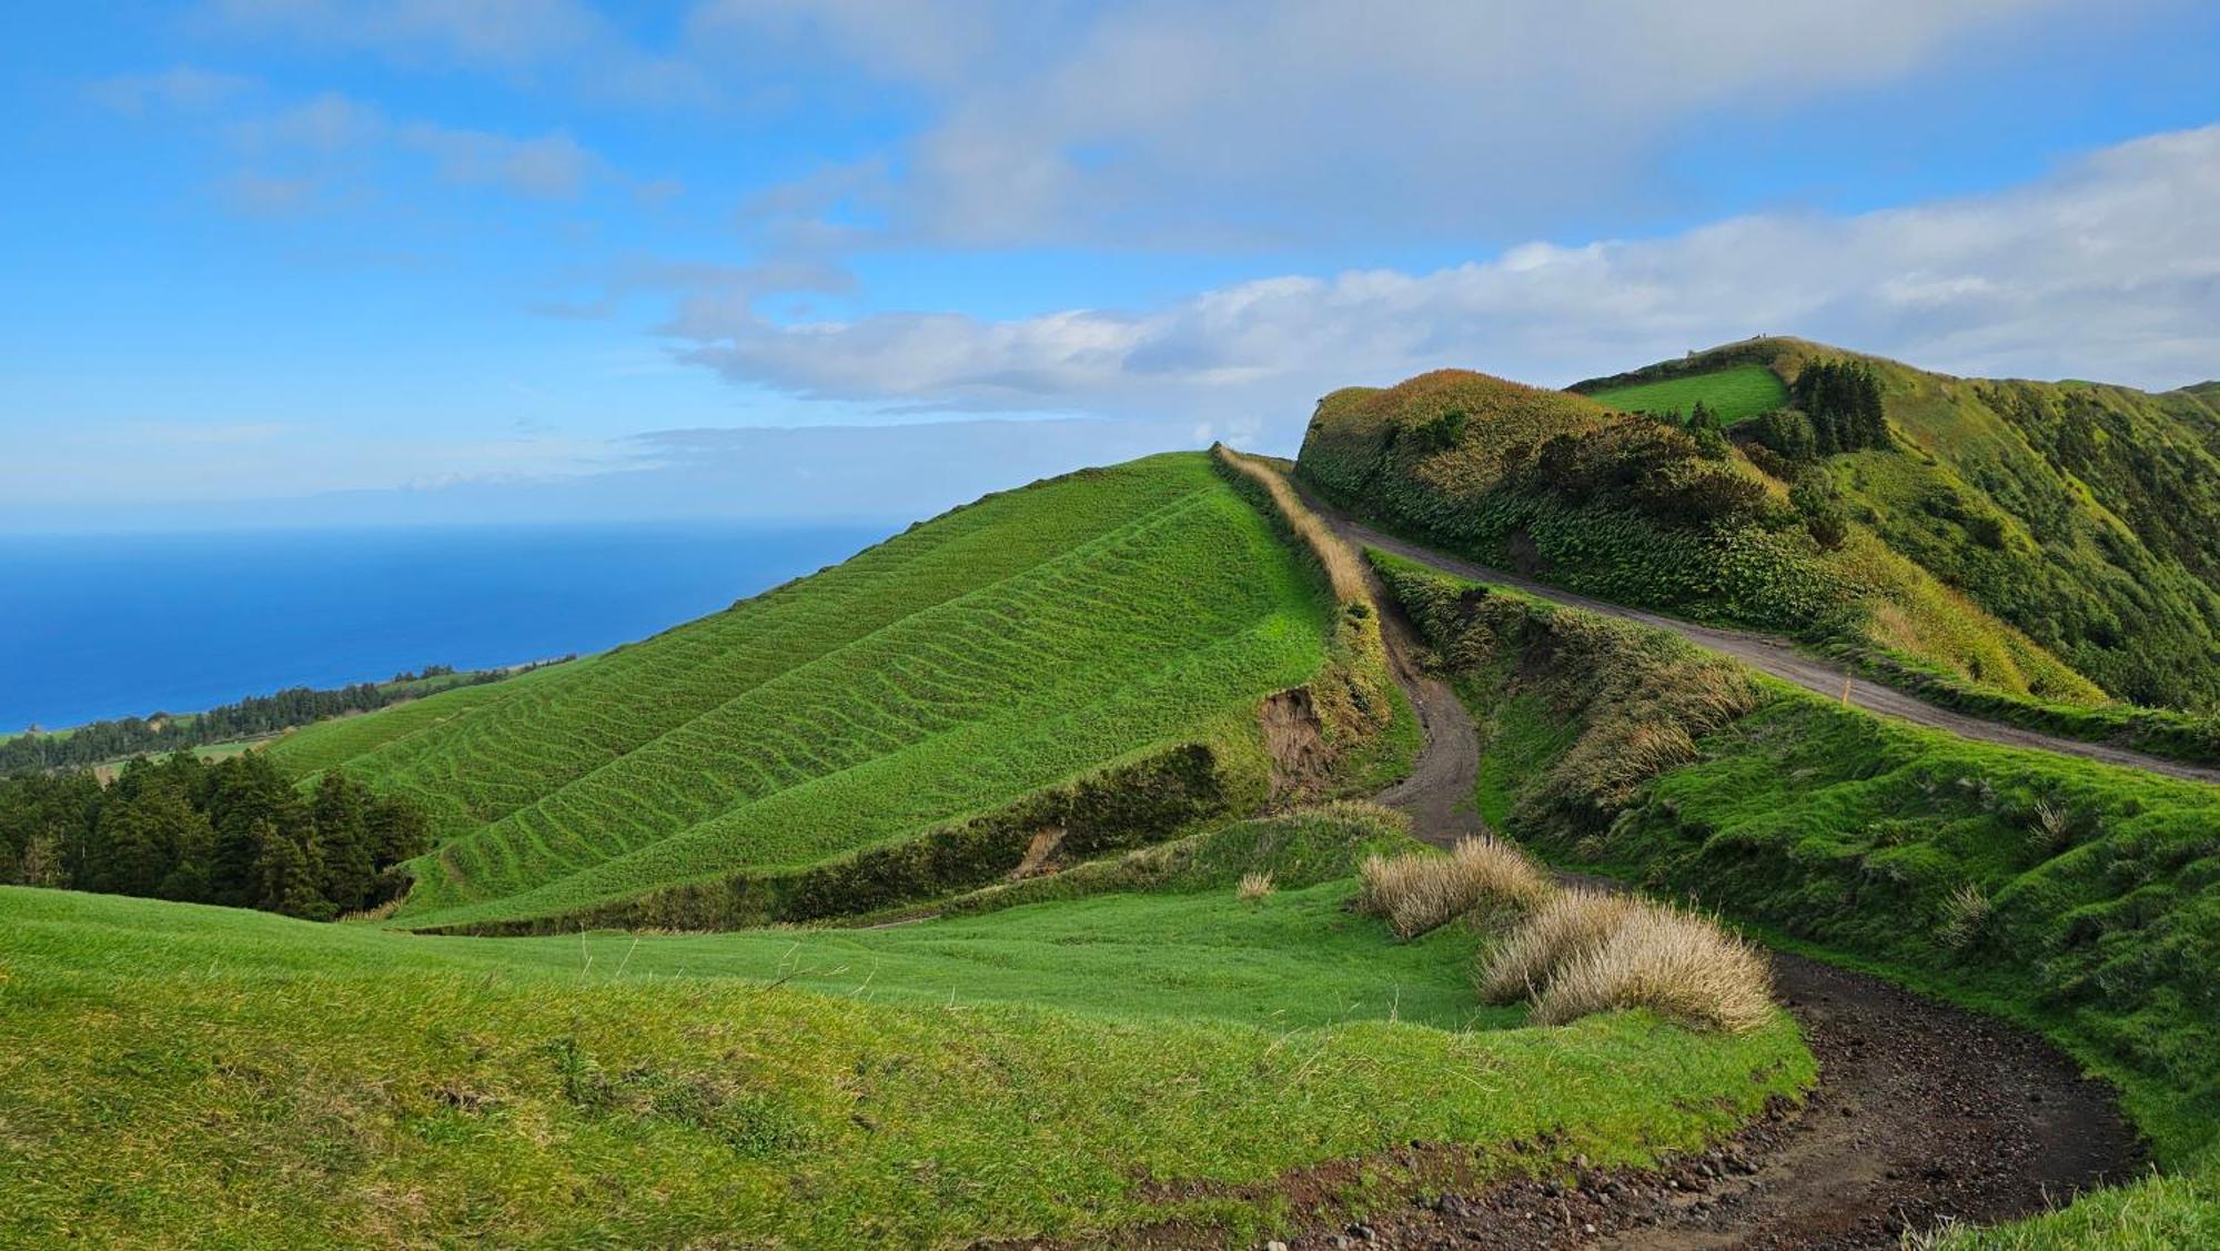
M 1343 543 L 1270 464 L 1243 457 L 1225 444 L 1210 446 L 1210 461 L 1283 539 L 1303 552 L 1303 566 L 1336 606 L 1325 665 L 1305 685 L 1265 701 L 1270 710 L 1274 699 L 1308 699 L 1332 767 L 1354 750 L 1372 745 L 1394 721 L 1394 677 L 1388 672 L 1388 645 L 1381 641 L 1379 606 L 1372 601 L 1363 557 Z M 1321 792 L 1332 790 L 1332 783 L 1328 776 L 1296 776 L 1281 779 L 1279 790 Z

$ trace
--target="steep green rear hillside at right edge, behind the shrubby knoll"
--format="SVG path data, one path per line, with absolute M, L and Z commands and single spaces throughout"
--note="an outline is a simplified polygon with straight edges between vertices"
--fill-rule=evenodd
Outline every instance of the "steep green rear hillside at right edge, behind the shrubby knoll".
M 1874 366 L 1894 430 L 1889 448 L 1825 464 L 1858 523 L 2111 694 L 2220 710 L 2213 384 L 1960 379 L 1749 339 L 1576 388 L 1698 388 L 1749 368 L 1794 379 L 1834 357 Z

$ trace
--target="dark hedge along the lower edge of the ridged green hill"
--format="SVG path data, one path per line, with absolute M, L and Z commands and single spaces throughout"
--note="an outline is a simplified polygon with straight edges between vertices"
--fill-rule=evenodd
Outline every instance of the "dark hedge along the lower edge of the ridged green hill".
M 1248 743 L 1174 743 L 917 838 L 790 872 L 741 872 L 644 896 L 426 934 L 528 936 L 577 929 L 746 929 L 828 921 L 1006 881 L 1043 832 L 1059 861 L 1083 861 L 1254 812 L 1265 767 Z

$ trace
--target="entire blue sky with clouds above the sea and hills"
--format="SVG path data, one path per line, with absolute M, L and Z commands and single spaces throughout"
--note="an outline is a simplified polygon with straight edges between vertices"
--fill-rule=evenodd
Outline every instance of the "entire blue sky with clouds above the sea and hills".
M 2216 58 L 2187 0 L 11 4 L 0 523 L 904 519 L 1760 330 L 2178 386 Z

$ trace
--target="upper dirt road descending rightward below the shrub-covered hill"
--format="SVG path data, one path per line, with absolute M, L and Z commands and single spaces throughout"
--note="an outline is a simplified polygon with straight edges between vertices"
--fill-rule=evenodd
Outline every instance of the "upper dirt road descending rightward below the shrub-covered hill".
M 2127 765 L 2131 770 L 2149 770 L 2153 774 L 2167 774 L 2173 779 L 2189 779 L 2189 781 L 2220 785 L 2220 770 L 2213 767 L 2198 767 L 2198 765 L 2164 761 L 2160 756 L 2145 756 L 2142 752 L 2129 752 L 2125 747 L 2105 747 L 2100 743 L 2058 739 L 2054 734 L 2038 734 L 2034 730 L 2020 730 L 2018 725 L 2000 725 L 1996 721 L 1982 721 L 1980 716 L 1967 716 L 1965 712 L 1936 708 L 1896 688 L 1887 688 L 1876 681 L 1854 679 L 1840 665 L 1832 665 L 1827 661 L 1816 661 L 1812 657 L 1798 654 L 1792 645 L 1772 634 L 1754 634 L 1747 630 L 1721 630 L 1716 626 L 1696 626 L 1694 621 L 1681 621 L 1676 617 L 1665 617 L 1658 612 L 1621 608 L 1616 603 L 1605 603 L 1601 599 L 1590 599 L 1585 594 L 1574 594 L 1570 590 L 1543 586 L 1538 581 L 1523 579 L 1514 572 L 1492 570 L 1487 566 L 1476 566 L 1472 561 L 1445 557 L 1432 548 L 1421 548 L 1419 543 L 1410 543 L 1392 535 L 1381 535 L 1379 530 L 1352 521 L 1350 517 L 1343 517 L 1330 508 L 1319 508 L 1316 501 L 1312 501 L 1312 508 L 1316 508 L 1321 517 L 1332 521 L 1334 530 L 1352 543 L 1381 548 L 1383 552 L 1394 552 L 1399 557 L 1410 557 L 1441 572 L 1510 586 L 1536 599 L 1547 599 L 1552 603 L 1565 603 L 1572 608 L 1585 608 L 1590 612 L 1603 612 L 1605 617 L 1623 617 L 1627 621 L 1641 621 L 1643 626 L 1656 626 L 1658 630 L 1672 630 L 1674 634 L 1681 634 L 1689 643 L 1709 648 L 1714 652 L 1725 652 L 1747 663 L 1749 668 L 1763 670 L 1783 681 L 1792 681 L 1805 690 L 1825 694 L 1829 699 L 1843 694 L 1843 681 L 1847 679 L 1849 701 L 1867 712 L 1883 712 L 1887 716 L 1900 716 L 1918 725 L 1934 725 L 1936 730 L 1949 730 L 1951 734 L 1965 739 L 1978 739 L 1982 743 L 2000 743 L 2005 747 L 2038 747 L 2045 752 L 2060 752 L 2067 756 L 2102 761 L 2107 765 Z

